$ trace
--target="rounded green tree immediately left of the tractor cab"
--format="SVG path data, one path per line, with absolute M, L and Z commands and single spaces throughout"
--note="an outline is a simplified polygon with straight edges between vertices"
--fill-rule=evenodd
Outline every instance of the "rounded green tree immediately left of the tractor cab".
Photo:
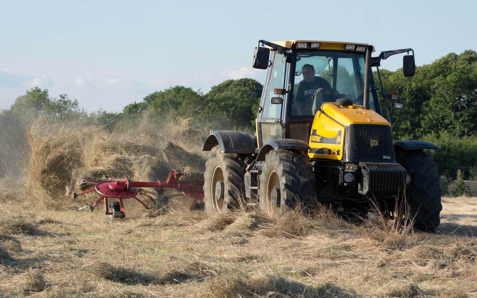
M 202 117 L 224 117 L 231 125 L 249 125 L 257 117 L 262 90 L 262 84 L 248 78 L 213 86 L 205 95 Z

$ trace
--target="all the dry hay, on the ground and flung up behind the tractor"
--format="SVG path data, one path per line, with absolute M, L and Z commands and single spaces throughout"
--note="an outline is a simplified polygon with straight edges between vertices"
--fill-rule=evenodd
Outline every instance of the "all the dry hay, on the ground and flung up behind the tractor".
M 72 200 L 81 176 L 148 181 L 175 164 L 186 179 L 201 171 L 200 140 L 184 137 L 201 134 L 153 127 L 127 136 L 33 126 L 28 177 L 0 181 L 0 297 L 477 297 L 477 198 L 443 198 L 433 234 L 379 217 L 355 225 L 324 208 L 144 217 L 127 202 L 124 220 L 101 206 L 79 216 L 94 196 Z

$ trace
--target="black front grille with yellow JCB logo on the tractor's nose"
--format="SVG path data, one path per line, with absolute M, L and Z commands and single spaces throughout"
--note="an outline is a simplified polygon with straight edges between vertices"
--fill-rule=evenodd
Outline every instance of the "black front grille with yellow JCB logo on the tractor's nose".
M 393 137 L 389 125 L 346 126 L 343 159 L 347 162 L 394 163 Z

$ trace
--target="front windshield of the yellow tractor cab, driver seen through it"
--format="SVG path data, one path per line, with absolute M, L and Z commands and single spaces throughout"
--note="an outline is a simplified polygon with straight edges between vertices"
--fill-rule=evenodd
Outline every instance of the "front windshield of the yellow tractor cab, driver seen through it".
M 324 102 L 348 98 L 363 104 L 364 53 L 297 51 L 291 115 L 312 116 Z M 373 92 L 370 108 L 376 110 Z

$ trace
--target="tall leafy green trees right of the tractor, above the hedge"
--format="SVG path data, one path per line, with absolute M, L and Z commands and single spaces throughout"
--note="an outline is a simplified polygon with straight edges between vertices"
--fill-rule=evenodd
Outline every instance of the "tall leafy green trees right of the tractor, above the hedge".
M 459 136 L 477 132 L 477 53 L 449 53 L 416 68 L 406 78 L 402 69 L 381 70 L 384 90 L 401 97 L 404 110 L 394 110 L 394 139 L 452 132 Z M 376 76 L 377 77 L 377 76 Z

